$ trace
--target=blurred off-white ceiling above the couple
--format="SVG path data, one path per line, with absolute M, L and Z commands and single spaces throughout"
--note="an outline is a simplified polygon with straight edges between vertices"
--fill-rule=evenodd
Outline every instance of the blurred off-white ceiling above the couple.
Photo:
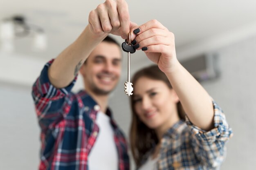
M 16 40 L 16 53 L 47 61 L 72 43 L 88 24 L 88 14 L 103 0 L 0 0 L 0 19 L 16 14 L 43 27 L 48 48 L 35 52 L 29 38 Z M 127 0 L 130 19 L 137 24 L 157 19 L 175 34 L 176 50 L 223 37 L 256 23 L 255 0 Z M 248 27 L 247 26 L 247 27 Z M 256 26 L 255 26 L 256 28 Z M 236 32 L 231 37 L 236 36 Z M 118 38 L 118 41 L 123 41 Z M 205 43 L 204 43 L 205 44 Z M 143 55 L 138 52 L 136 55 Z M 178 56 L 179 57 L 179 56 Z M 144 60 L 145 58 L 143 58 Z M 133 62 L 140 60 L 134 57 Z

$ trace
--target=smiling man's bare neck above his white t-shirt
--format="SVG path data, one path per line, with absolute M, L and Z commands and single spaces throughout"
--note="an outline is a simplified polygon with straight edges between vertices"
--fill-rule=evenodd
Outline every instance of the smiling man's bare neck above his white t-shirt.
M 101 112 L 106 113 L 109 95 L 97 95 L 92 91 L 86 91 L 99 104 Z

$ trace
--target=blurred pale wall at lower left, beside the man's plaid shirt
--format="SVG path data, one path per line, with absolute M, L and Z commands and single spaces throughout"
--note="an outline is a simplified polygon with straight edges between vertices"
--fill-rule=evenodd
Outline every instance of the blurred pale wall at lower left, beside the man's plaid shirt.
M 0 84 L 0 170 L 38 167 L 39 128 L 30 89 Z

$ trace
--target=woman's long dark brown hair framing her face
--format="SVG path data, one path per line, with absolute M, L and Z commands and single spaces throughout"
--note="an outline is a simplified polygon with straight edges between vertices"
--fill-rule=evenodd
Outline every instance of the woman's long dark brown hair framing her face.
M 141 77 L 148 77 L 150 79 L 161 80 L 167 84 L 169 88 L 172 88 L 166 75 L 158 68 L 157 65 L 148 66 L 143 68 L 132 78 L 132 83 L 135 86 L 138 79 Z M 130 105 L 132 108 L 132 122 L 130 128 L 130 145 L 132 149 L 132 155 L 137 167 L 141 166 L 142 157 L 152 149 L 158 143 L 155 130 L 148 128 L 137 116 L 135 111 L 135 104 L 133 103 L 132 95 L 130 97 Z M 184 119 L 184 113 L 180 102 L 177 104 L 178 113 L 181 119 Z

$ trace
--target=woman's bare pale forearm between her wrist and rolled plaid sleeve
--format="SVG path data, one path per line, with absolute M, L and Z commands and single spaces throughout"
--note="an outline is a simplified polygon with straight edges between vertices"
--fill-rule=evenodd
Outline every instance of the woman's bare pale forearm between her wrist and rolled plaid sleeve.
M 212 99 L 207 91 L 178 61 L 166 76 L 190 121 L 203 130 L 211 130 L 214 110 Z

